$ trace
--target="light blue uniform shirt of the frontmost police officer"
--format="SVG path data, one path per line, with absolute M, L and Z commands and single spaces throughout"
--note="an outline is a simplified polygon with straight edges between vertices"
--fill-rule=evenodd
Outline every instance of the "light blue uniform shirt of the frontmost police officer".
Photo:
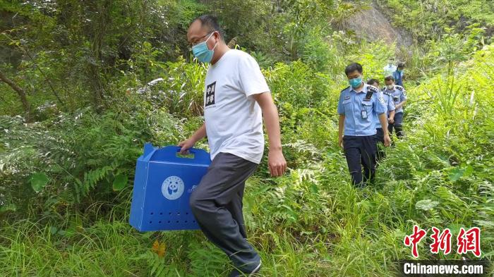
M 373 93 L 367 98 L 369 91 Z M 361 92 L 356 92 L 352 87 L 342 90 L 339 94 L 337 111 L 345 116 L 344 135 L 359 137 L 375 135 L 376 114 L 386 112 L 383 101 L 379 89 L 371 85 L 364 84 Z

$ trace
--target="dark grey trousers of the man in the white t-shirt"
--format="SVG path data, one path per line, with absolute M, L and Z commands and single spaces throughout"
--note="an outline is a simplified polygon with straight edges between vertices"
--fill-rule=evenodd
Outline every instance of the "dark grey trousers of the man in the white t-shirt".
M 234 154 L 219 153 L 190 198 L 204 235 L 243 272 L 253 271 L 260 263 L 259 254 L 246 240 L 242 213 L 245 182 L 257 166 Z

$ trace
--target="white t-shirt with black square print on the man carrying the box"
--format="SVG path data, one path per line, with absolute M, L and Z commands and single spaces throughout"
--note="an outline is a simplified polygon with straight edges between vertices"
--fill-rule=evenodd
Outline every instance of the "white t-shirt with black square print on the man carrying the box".
M 231 49 L 207 70 L 204 119 L 211 159 L 219 152 L 260 164 L 263 115 L 253 94 L 270 92 L 255 59 Z

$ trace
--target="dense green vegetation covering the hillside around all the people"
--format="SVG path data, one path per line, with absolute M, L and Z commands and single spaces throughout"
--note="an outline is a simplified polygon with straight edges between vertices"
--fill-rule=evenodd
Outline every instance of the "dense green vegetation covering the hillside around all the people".
M 289 173 L 270 178 L 265 157 L 244 198 L 264 276 L 395 276 L 414 224 L 455 235 L 478 226 L 482 258 L 493 259 L 491 1 L 378 1 L 421 43 L 397 51 L 407 62 L 406 139 L 364 190 L 351 186 L 337 146 L 342 71 L 359 61 L 366 78 L 382 78 L 397 49 L 336 26 L 369 1 L 90 2 L 0 2 L 0 73 L 20 88 L 0 82 L 0 276 L 229 271 L 198 231 L 128 225 L 144 142 L 176 144 L 202 124 L 207 67 L 191 59 L 185 34 L 203 13 L 258 60 L 279 109 Z M 447 11 L 430 16 L 427 5 Z M 421 259 L 444 258 L 429 240 Z

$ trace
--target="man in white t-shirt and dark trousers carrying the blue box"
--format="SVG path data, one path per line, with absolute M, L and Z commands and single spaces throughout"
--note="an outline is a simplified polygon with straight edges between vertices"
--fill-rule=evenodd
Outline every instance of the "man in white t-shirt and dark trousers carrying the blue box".
M 186 152 L 207 135 L 211 150 L 212 163 L 191 194 L 191 209 L 205 236 L 233 262 L 230 276 L 251 276 L 260 271 L 261 261 L 246 240 L 243 189 L 263 157 L 263 116 L 270 173 L 282 176 L 286 171 L 278 111 L 258 63 L 246 52 L 229 49 L 215 17 L 193 20 L 187 40 L 199 61 L 211 63 L 204 88 L 205 123 L 179 143 Z

